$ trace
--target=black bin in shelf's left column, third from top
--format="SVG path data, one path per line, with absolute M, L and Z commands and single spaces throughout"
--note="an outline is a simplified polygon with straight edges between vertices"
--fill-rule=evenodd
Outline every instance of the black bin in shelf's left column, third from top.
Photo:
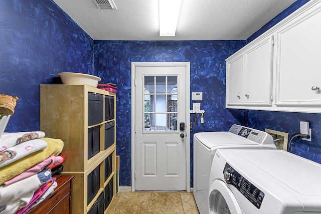
M 95 195 L 97 194 L 100 188 L 100 170 L 99 165 L 90 172 L 88 175 L 88 182 L 87 182 L 87 205 L 94 199 Z

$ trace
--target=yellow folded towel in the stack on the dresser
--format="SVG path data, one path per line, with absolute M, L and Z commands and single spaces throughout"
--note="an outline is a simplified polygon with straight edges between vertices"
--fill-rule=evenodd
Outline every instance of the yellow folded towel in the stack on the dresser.
M 0 184 L 3 184 L 5 181 L 17 176 L 35 164 L 44 161 L 48 157 L 57 156 L 61 153 L 64 147 L 64 142 L 62 140 L 47 137 L 41 139 L 47 142 L 47 148 L 28 155 L 28 158 L 21 158 L 0 168 Z

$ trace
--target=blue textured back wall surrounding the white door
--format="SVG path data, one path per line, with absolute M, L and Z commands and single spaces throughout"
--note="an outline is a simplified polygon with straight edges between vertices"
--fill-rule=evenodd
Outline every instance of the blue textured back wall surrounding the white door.
M 94 41 L 95 75 L 102 77 L 101 82 L 119 87 L 117 155 L 121 186 L 131 185 L 131 62 L 190 62 L 191 92 L 203 92 L 201 107 L 206 111 L 205 123 L 199 120 L 193 124 L 193 133 L 228 130 L 239 122 L 225 109 L 225 59 L 244 44 L 245 41 Z

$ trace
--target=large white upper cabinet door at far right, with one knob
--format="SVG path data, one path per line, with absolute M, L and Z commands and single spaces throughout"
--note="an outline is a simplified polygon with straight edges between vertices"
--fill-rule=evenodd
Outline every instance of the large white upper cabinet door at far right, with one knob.
M 277 106 L 321 106 L 320 11 L 318 2 L 277 32 Z

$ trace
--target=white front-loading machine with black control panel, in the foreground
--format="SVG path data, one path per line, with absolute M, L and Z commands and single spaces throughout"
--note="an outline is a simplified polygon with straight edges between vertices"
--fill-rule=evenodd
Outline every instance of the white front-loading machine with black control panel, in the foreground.
M 209 212 L 320 214 L 321 164 L 283 150 L 217 150 Z

